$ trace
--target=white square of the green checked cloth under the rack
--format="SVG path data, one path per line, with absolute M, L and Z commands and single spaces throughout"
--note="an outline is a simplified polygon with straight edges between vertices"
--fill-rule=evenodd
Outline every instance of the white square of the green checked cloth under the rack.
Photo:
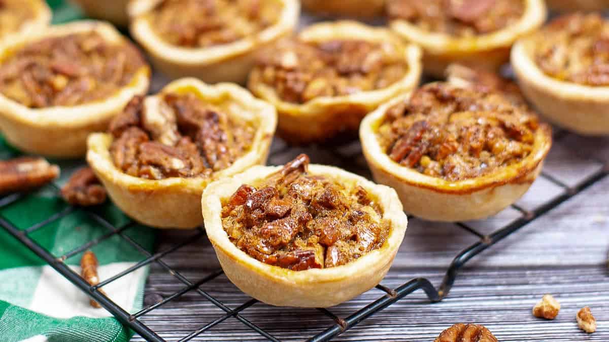
M 97 269 L 99 279 L 102 281 L 108 279 L 132 265 L 135 265 L 135 263 L 115 262 L 100 266 Z M 80 273 L 80 267 L 71 266 L 71 268 L 76 273 Z M 142 267 L 111 282 L 104 287 L 104 291 L 112 301 L 127 312 L 132 312 L 141 286 L 140 279 L 144 277 L 146 277 L 146 269 Z M 27 309 L 55 318 L 110 316 L 110 313 L 105 309 L 91 307 L 89 297 L 50 266 L 43 267 L 40 281 Z

